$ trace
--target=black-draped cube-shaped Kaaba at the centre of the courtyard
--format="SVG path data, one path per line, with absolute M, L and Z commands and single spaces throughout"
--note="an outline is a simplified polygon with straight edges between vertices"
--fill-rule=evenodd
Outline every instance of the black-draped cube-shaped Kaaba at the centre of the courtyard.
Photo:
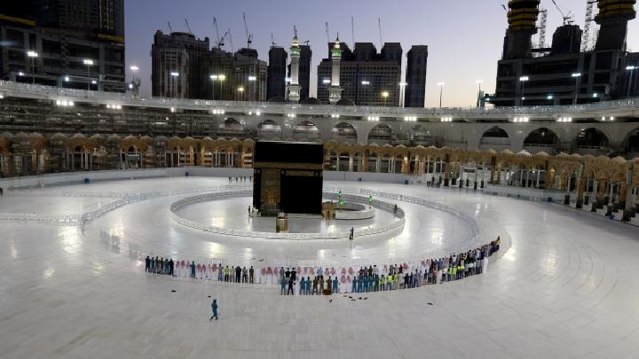
M 261 215 L 321 215 L 323 144 L 258 141 L 253 168 L 253 207 Z

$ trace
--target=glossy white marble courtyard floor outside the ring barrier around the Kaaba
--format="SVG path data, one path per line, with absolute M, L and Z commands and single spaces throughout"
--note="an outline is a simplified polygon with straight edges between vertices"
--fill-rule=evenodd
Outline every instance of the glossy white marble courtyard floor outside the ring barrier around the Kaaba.
M 191 177 L 51 187 L 37 190 L 42 196 L 5 194 L 0 206 L 2 212 L 80 213 L 108 199 L 58 202 L 52 194 L 172 191 L 225 182 Z M 475 193 L 327 184 L 446 203 L 476 218 L 483 238 L 501 234 L 510 246 L 481 276 L 374 293 L 367 300 L 333 296 L 330 302 L 280 297 L 270 285 L 147 276 L 129 248 L 247 263 L 388 261 L 472 246 L 468 229 L 454 215 L 402 204 L 402 233 L 352 247 L 221 238 L 170 223 L 167 205 L 179 196 L 119 208 L 84 230 L 0 221 L 0 357 L 639 357 L 636 227 L 558 205 Z M 101 230 L 121 241 L 106 243 Z M 209 296 L 220 304 L 213 323 Z

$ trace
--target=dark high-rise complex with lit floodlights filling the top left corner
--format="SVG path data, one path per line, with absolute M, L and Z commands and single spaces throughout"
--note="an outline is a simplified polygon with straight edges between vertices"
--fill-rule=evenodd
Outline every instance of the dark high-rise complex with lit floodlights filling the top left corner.
M 0 7 L 0 74 L 17 82 L 124 91 L 123 0 L 23 0 Z

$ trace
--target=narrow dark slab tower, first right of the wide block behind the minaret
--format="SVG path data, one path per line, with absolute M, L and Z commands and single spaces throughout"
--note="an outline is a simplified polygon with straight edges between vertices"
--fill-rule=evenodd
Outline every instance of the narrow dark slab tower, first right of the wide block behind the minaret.
M 406 107 L 423 107 L 426 98 L 426 72 L 428 69 L 428 46 L 414 45 L 406 54 Z

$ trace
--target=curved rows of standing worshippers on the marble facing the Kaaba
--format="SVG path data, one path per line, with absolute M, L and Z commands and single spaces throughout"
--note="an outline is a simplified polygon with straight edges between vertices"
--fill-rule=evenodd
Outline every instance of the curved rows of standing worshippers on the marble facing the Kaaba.
M 485 271 L 488 257 L 499 251 L 500 244 L 501 239 L 498 237 L 490 244 L 466 253 L 454 254 L 438 260 L 427 259 L 411 266 L 404 263 L 384 265 L 383 269 L 380 269 L 373 265 L 367 268 L 362 267 L 359 271 L 343 268 L 341 277 L 338 277 L 339 272 L 335 268 L 284 269 L 280 267 L 280 269 L 272 269 L 269 267 L 256 272 L 252 266 L 247 268 L 246 266 L 223 266 L 222 263 L 196 264 L 195 261 L 190 263 L 173 261 L 172 258 L 165 260 L 157 256 L 146 257 L 145 271 L 194 279 L 217 278 L 220 282 L 279 284 L 280 288 L 283 288 L 282 291 L 286 293 L 295 293 L 295 288 L 299 288 L 300 294 L 377 292 L 434 285 L 480 274 Z M 305 279 L 304 276 L 306 276 Z

